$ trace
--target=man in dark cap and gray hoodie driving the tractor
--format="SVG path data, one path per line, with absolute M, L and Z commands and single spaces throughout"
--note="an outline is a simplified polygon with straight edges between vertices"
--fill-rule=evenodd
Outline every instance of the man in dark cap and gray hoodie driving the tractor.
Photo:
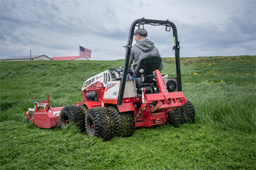
M 137 29 L 137 31 L 134 32 L 134 36 L 136 43 L 131 48 L 131 55 L 129 59 L 127 73 L 132 73 L 132 70 L 135 70 L 140 59 L 142 59 L 143 57 L 147 57 L 148 55 L 158 55 L 159 57 L 161 57 L 154 43 L 150 41 L 150 39 L 147 39 L 148 32 L 145 29 Z M 132 66 L 133 60 L 134 64 Z M 161 70 L 163 69 L 163 67 L 164 64 L 162 60 Z

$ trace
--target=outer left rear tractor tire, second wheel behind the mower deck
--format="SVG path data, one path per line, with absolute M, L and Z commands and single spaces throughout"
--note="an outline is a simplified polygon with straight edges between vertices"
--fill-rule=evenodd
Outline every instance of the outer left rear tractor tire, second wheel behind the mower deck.
M 115 136 L 115 123 L 108 108 L 97 107 L 88 110 L 85 124 L 88 136 L 96 136 L 104 141 Z

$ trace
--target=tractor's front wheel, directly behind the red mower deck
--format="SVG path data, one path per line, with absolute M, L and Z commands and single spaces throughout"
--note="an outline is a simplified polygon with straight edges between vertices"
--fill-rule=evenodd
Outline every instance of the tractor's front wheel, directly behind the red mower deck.
M 74 124 L 83 131 L 84 118 L 83 110 L 79 106 L 66 106 L 60 112 L 61 128 L 64 129 L 68 124 Z

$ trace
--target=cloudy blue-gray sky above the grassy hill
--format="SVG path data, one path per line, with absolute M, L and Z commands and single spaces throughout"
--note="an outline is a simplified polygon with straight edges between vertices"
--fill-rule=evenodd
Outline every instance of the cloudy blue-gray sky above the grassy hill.
M 0 0 L 0 58 L 79 55 L 92 60 L 124 59 L 132 22 L 145 17 L 170 20 L 180 57 L 256 55 L 256 1 L 230 0 Z M 174 57 L 173 35 L 145 25 L 162 57 Z M 135 42 L 134 42 L 135 43 Z

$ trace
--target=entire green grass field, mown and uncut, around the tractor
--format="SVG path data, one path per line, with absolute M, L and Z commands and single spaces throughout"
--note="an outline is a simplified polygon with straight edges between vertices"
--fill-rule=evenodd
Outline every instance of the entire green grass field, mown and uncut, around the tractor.
M 76 127 L 26 124 L 34 101 L 82 101 L 83 82 L 115 61 L 0 62 L 1 169 L 255 169 L 255 56 L 181 58 L 182 90 L 195 124 L 137 129 L 129 138 L 88 138 Z M 175 62 L 164 59 L 164 74 Z

